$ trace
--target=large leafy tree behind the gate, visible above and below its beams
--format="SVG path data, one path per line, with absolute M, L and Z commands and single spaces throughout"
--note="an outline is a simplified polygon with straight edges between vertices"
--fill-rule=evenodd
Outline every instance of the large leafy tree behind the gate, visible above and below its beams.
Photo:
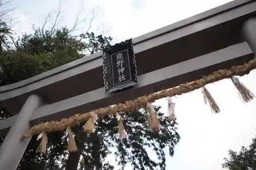
M 112 38 L 95 36 L 94 33 L 84 33 L 77 38 L 67 28 L 38 28 L 33 34 L 24 34 L 22 38 L 12 40 L 14 47 L 5 50 L 0 58 L 1 86 L 86 57 L 87 52 L 98 52 L 110 45 Z M 43 156 L 35 152 L 39 141 L 36 140 L 37 136 L 33 136 L 18 170 L 114 169 L 110 162 L 105 162 L 106 156 L 112 153 L 111 148 L 117 149 L 116 160 L 122 169 L 128 162 L 132 163 L 134 169 L 165 169 L 163 149 L 168 147 L 169 155 L 173 156 L 180 137 L 176 132 L 177 123 L 166 119 L 159 112 L 160 107 L 155 109 L 161 124 L 159 133 L 153 133 L 148 127 L 144 109 L 122 114 L 127 139 L 120 140 L 117 137 L 117 119 L 114 116 L 100 118 L 94 134 L 84 134 L 81 131 L 82 124 L 72 127 L 78 148 L 78 152 L 74 153 L 66 151 L 67 141 L 62 138 L 63 131 L 48 134 L 50 148 L 47 155 Z M 5 110 L 1 114 L 8 115 Z M 145 150 L 147 147 L 153 148 L 158 161 L 151 159 Z

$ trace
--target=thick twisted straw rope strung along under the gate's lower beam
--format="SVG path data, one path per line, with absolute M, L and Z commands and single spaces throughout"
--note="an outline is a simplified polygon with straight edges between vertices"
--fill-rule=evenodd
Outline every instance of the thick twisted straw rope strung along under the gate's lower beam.
M 131 111 L 137 108 L 143 107 L 146 103 L 155 102 L 158 99 L 166 98 L 167 96 L 180 95 L 183 93 L 187 93 L 201 87 L 204 87 L 206 84 L 213 83 L 222 79 L 231 78 L 231 76 L 244 76 L 249 74 L 252 69 L 256 68 L 256 59 L 250 60 L 248 63 L 244 65 L 232 66 L 230 69 L 220 69 L 218 71 L 213 72 L 211 75 L 204 76 L 200 80 L 196 80 L 191 83 L 180 84 L 178 87 L 174 87 L 168 90 L 162 90 L 158 93 L 153 93 L 146 96 L 141 96 L 136 100 L 126 101 L 124 104 L 117 104 L 113 107 L 101 108 L 97 110 L 93 110 L 95 114 L 98 116 L 104 116 L 106 114 L 115 114 L 116 112 L 124 112 Z M 76 114 L 69 118 L 63 118 L 60 121 L 52 121 L 41 123 L 39 125 L 33 126 L 24 137 L 30 137 L 35 134 L 39 134 L 41 132 L 53 132 L 53 131 L 61 131 L 65 130 L 68 127 L 74 126 L 79 122 L 84 122 L 88 118 L 90 118 L 90 112 Z

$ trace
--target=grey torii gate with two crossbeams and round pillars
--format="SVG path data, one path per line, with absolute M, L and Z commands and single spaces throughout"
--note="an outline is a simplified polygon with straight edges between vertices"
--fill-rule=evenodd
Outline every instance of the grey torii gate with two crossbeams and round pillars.
M 102 52 L 35 77 L 0 87 L 0 169 L 15 170 L 31 139 L 32 125 L 125 102 L 240 65 L 256 55 L 256 2 L 236 0 L 132 39 L 138 84 L 104 92 Z M 157 57 L 156 57 L 157 56 Z M 90 83 L 88 83 L 88 81 Z

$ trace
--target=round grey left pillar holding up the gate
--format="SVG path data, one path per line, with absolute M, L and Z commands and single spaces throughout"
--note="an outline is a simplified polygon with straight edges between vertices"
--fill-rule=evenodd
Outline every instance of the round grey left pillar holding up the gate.
M 41 104 L 40 97 L 32 94 L 18 113 L 15 124 L 9 130 L 0 148 L 1 170 L 16 170 L 31 139 L 31 137 L 22 139 L 22 135 L 29 130 L 29 118 Z

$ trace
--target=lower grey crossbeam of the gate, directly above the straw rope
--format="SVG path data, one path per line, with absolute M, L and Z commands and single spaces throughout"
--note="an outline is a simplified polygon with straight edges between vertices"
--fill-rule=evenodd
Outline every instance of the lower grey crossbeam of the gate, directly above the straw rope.
M 210 74 L 216 69 L 226 68 L 225 62 L 239 65 L 252 58 L 251 48 L 246 42 L 232 45 L 216 52 L 141 75 L 138 77 L 139 84 L 130 90 L 111 95 L 105 94 L 104 88 L 99 88 L 73 98 L 39 107 L 31 116 L 30 122 L 34 125 L 45 120 L 61 119 L 75 113 L 87 112 L 135 99 L 144 94 L 160 91 L 162 88 L 166 89 L 180 83 L 200 79 L 203 74 L 207 73 L 206 70 Z M 7 121 L 0 120 L 0 134 L 7 132 L 7 129 L 14 123 L 14 119 L 15 117 L 10 117 L 6 119 Z

